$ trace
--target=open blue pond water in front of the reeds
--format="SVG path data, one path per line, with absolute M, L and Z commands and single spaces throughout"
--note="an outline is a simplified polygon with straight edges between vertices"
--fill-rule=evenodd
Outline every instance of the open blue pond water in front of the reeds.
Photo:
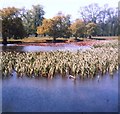
M 118 72 L 71 80 L 18 78 L 2 81 L 3 112 L 117 112 Z

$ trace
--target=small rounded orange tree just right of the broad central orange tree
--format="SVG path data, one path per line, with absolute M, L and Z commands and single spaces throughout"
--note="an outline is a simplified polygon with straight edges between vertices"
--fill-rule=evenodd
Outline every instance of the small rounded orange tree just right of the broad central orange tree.
M 85 36 L 85 23 L 77 19 L 74 23 L 71 24 L 70 30 L 72 35 L 77 39 L 77 37 L 84 37 Z

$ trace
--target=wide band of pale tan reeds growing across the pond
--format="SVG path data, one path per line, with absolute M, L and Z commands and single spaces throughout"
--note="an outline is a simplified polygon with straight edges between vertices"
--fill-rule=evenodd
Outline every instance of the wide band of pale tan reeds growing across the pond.
M 102 44 L 101 44 L 102 45 Z M 79 76 L 93 78 L 98 74 L 118 70 L 118 48 L 116 42 L 96 45 L 89 50 L 77 52 L 0 52 L 2 76 L 17 75 L 53 78 Z

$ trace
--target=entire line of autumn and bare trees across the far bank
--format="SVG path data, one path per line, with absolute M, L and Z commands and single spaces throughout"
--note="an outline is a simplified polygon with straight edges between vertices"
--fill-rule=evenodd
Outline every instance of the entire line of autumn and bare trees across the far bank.
M 2 37 L 24 38 L 29 35 L 51 36 L 69 38 L 93 36 L 117 36 L 118 35 L 118 8 L 108 5 L 100 7 L 98 4 L 90 4 L 81 7 L 80 18 L 71 21 L 71 15 L 59 12 L 51 19 L 44 17 L 45 11 L 42 5 L 33 5 L 30 10 L 26 8 L 8 7 L 0 10 L 0 22 L 2 22 Z

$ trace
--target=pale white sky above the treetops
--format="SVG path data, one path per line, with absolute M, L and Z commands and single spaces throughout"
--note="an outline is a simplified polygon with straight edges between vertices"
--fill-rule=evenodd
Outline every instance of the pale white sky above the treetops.
M 40 4 L 43 6 L 46 18 L 52 18 L 59 11 L 65 15 L 70 14 L 71 19 L 79 18 L 80 7 L 87 6 L 92 3 L 98 3 L 99 6 L 108 4 L 109 7 L 118 7 L 120 0 L 0 0 L 0 9 L 15 6 L 17 8 L 25 7 L 31 9 L 32 5 Z

